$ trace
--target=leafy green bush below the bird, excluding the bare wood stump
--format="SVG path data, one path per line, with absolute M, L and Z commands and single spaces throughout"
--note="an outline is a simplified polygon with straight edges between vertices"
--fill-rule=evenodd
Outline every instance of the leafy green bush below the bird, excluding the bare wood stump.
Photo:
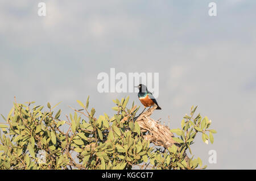
M 180 129 L 170 132 L 174 144 L 168 148 L 151 144 L 146 139 L 150 132 L 142 131 L 135 117 L 139 107 L 128 109 L 126 99 L 114 100 L 113 117 L 104 114 L 94 117 L 95 110 L 88 111 L 89 96 L 84 105 L 77 100 L 81 110 L 59 119 L 61 110 L 47 104 L 32 106 L 34 102 L 14 103 L 6 124 L 0 124 L 0 169 L 204 169 L 200 158 L 188 158 L 192 154 L 197 133 L 203 141 L 213 143 L 211 121 L 202 118 L 191 108 L 190 116 L 181 121 Z M 15 101 L 16 102 L 16 101 Z M 209 136 L 207 134 L 209 133 Z M 1 132 L 0 132 L 1 133 Z

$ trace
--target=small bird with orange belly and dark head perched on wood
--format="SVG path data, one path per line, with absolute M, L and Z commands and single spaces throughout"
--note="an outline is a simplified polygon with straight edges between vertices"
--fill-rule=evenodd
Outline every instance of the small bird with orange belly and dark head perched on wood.
M 158 102 L 156 102 L 152 93 L 147 90 L 147 87 L 145 85 L 140 84 L 135 87 L 137 87 L 139 89 L 138 97 L 139 97 L 139 100 L 141 100 L 141 103 L 143 104 L 143 106 L 145 107 L 144 110 L 147 107 L 151 107 L 154 105 L 157 106 L 156 110 L 162 110 L 162 108 L 160 108 L 160 106 L 158 106 Z M 142 112 L 144 112 L 144 110 Z

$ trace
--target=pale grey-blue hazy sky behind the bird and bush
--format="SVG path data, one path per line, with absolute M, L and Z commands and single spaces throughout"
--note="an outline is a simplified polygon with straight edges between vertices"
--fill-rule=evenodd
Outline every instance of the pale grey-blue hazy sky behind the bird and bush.
M 46 2 L 47 16 L 38 16 Z M 217 16 L 208 4 L 217 3 Z M 256 1 L 0 1 L 0 113 L 19 103 L 60 101 L 63 113 L 86 101 L 113 115 L 97 75 L 159 73 L 155 119 L 180 127 L 185 113 L 212 120 L 214 144 L 199 135 L 195 157 L 208 169 L 256 169 Z M 131 102 L 130 104 L 131 105 Z M 1 118 L 1 121 L 2 118 Z M 208 163 L 208 151 L 217 163 Z

